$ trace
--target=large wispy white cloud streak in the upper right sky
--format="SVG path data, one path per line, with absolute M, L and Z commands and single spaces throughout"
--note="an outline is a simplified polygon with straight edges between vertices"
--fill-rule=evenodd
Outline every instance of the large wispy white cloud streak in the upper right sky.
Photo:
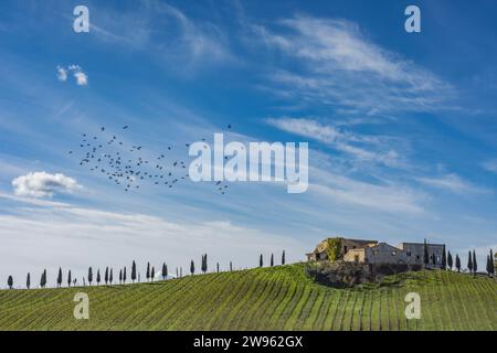
M 295 17 L 279 24 L 284 34 L 252 26 L 271 50 L 298 60 L 299 66 L 269 74 L 276 93 L 369 114 L 438 109 L 453 94 L 433 73 L 370 42 L 351 22 Z

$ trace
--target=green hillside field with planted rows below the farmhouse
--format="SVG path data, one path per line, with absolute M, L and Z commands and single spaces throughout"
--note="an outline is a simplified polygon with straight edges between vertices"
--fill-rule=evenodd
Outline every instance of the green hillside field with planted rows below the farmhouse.
M 89 320 L 73 297 L 89 296 Z M 405 293 L 422 318 L 406 320 Z M 154 284 L 0 291 L 0 330 L 497 330 L 497 282 L 441 270 L 332 289 L 304 265 L 186 277 Z

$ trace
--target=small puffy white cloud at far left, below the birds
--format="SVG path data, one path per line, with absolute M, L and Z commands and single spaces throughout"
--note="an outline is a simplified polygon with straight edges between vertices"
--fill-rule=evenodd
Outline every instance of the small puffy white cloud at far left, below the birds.
M 12 180 L 18 196 L 52 197 L 55 193 L 71 193 L 81 188 L 77 182 L 62 173 L 30 172 Z

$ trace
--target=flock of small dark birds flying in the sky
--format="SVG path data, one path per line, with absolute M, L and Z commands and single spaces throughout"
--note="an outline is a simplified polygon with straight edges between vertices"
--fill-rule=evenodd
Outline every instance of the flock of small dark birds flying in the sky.
M 231 129 L 231 125 L 228 129 Z M 123 130 L 129 130 L 129 126 L 124 126 Z M 202 138 L 202 141 L 205 141 Z M 190 147 L 184 143 L 187 151 Z M 188 168 L 184 161 L 173 159 L 173 150 L 177 147 L 169 146 L 167 151 L 156 158 L 145 158 L 142 146 L 127 146 L 125 141 L 116 135 L 106 132 L 105 127 L 101 127 L 98 136 L 88 133 L 82 135 L 78 145 L 78 153 L 70 150 L 68 154 L 80 154 L 80 165 L 86 167 L 89 171 L 104 175 L 108 181 L 119 185 L 124 191 L 139 190 L 144 183 L 172 189 L 181 182 L 188 181 Z M 215 191 L 225 194 L 228 184 L 213 182 Z

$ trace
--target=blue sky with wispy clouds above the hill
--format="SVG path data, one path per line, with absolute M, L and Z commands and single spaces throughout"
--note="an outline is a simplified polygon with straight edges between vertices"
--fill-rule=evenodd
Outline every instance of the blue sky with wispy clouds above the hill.
M 89 33 L 73 31 L 77 4 Z M 404 31 L 409 4 L 421 33 Z M 284 248 L 295 261 L 335 234 L 445 242 L 463 264 L 476 248 L 484 268 L 497 246 L 496 11 L 442 0 L 2 1 L 0 276 L 133 259 L 187 267 L 202 253 L 250 267 Z M 67 154 L 101 126 L 146 156 L 178 147 L 171 158 L 186 161 L 179 147 L 214 132 L 309 142 L 309 189 L 125 193 Z M 34 195 L 12 184 L 33 172 L 77 186 Z

